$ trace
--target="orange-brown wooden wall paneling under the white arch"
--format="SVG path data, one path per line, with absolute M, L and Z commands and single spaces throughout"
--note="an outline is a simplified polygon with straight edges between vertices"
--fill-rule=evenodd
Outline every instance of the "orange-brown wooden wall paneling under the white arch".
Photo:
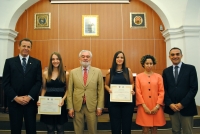
M 145 54 L 158 57 L 156 71 L 161 72 L 166 66 L 165 42 L 157 30 L 157 25 L 162 22 L 140 0 L 130 4 L 50 4 L 49 0 L 41 0 L 26 12 L 16 25 L 19 35 L 14 54 L 19 54 L 19 40 L 28 31 L 27 37 L 33 40 L 31 56 L 40 59 L 43 68 L 48 66 L 53 51 L 61 53 L 67 70 L 78 67 L 78 53 L 82 49 L 91 50 L 94 56 L 92 65 L 105 70 L 110 68 L 113 55 L 118 50 L 125 52 L 127 66 L 135 73 L 143 71 L 140 59 Z M 34 30 L 34 13 L 41 12 L 52 13 L 50 30 Z M 146 12 L 147 28 L 131 29 L 130 12 Z M 82 15 L 90 14 L 99 15 L 100 34 L 97 37 L 82 37 Z

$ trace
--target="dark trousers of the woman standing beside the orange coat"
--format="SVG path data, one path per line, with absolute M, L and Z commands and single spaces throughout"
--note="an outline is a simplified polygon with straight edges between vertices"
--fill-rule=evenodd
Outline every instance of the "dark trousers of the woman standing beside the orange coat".
M 112 134 L 131 134 L 133 103 L 114 102 L 108 107 Z

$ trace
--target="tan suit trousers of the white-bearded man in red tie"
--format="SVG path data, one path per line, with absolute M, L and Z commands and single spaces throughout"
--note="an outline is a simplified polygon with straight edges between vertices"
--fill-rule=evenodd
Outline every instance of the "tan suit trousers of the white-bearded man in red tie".
M 97 134 L 97 116 L 96 111 L 89 112 L 87 106 L 84 104 L 79 112 L 74 114 L 74 131 L 75 134 L 84 133 L 85 118 L 87 122 L 88 134 Z

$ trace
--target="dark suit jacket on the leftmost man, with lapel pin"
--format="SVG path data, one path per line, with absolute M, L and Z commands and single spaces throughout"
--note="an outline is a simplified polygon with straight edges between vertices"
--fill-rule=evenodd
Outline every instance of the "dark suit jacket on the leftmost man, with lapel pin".
M 29 56 L 24 73 L 19 56 L 6 59 L 3 71 L 3 89 L 8 98 L 8 105 L 15 96 L 30 95 L 37 101 L 41 85 L 42 68 L 39 60 Z

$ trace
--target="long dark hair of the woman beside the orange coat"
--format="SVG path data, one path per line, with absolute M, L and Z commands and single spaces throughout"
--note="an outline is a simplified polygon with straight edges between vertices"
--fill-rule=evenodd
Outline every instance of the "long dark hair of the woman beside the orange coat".
M 116 74 L 116 69 L 117 69 L 117 63 L 116 63 L 116 58 L 119 54 L 123 54 L 123 57 L 124 57 L 124 62 L 122 63 L 122 71 L 123 71 L 123 75 L 125 77 L 125 79 L 127 80 L 127 82 L 130 82 L 129 80 L 129 71 L 126 67 L 126 58 L 125 58 L 125 54 L 122 52 L 122 51 L 117 51 L 115 54 L 114 54 L 114 57 L 113 57 L 113 62 L 112 62 L 112 67 L 110 69 L 110 80 L 112 80 L 112 75 L 115 75 Z

